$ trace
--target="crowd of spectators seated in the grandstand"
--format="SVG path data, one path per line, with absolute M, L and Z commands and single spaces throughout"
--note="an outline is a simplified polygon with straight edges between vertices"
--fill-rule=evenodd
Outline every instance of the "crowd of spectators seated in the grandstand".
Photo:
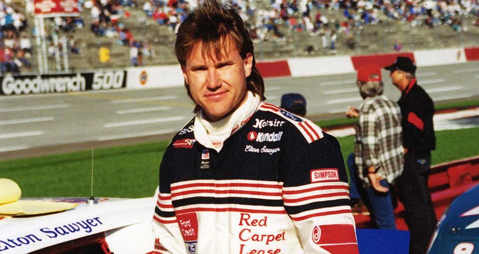
M 479 14 L 478 0 L 271 0 L 266 6 L 247 0 L 227 0 L 238 12 L 248 27 L 253 42 L 265 40 L 285 40 L 287 30 L 292 32 L 307 31 L 312 36 L 319 36 L 319 47 L 335 53 L 340 36 L 342 44 L 350 49 L 356 47 L 353 28 L 381 22 L 381 18 L 397 19 L 412 26 L 448 24 L 455 31 L 467 30 L 462 17 Z M 98 36 L 117 38 L 120 45 L 136 47 L 130 50 L 135 58 L 135 51 L 141 55 L 153 55 L 148 41 L 135 40 L 129 27 L 125 27 L 121 18 L 130 17 L 128 8 L 141 8 L 146 16 L 155 23 L 164 25 L 177 33 L 179 25 L 187 15 L 198 6 L 197 0 L 146 0 L 142 6 L 136 0 L 92 0 L 79 2 L 79 9 L 89 9 L 93 21 L 90 30 Z M 336 9 L 342 13 L 342 19 L 333 19 L 325 14 L 326 9 Z M 336 16 L 337 17 L 337 16 Z M 1 26 L 1 71 L 18 72 L 21 66 L 30 66 L 31 42 L 22 31 L 27 26 L 23 10 L 12 8 L 0 1 Z M 64 32 L 74 32 L 84 27 L 83 19 L 75 17 L 55 18 L 56 28 Z M 479 18 L 475 25 L 479 26 Z M 31 29 L 31 27 L 30 27 Z M 74 39 L 69 41 L 74 42 Z M 143 45 L 146 45 L 144 47 Z M 394 44 L 394 50 L 400 51 L 400 42 Z M 312 53 L 312 46 L 306 49 Z M 69 47 L 71 53 L 79 52 L 77 46 Z M 50 54 L 51 55 L 51 54 Z M 132 64 L 141 65 L 141 61 Z

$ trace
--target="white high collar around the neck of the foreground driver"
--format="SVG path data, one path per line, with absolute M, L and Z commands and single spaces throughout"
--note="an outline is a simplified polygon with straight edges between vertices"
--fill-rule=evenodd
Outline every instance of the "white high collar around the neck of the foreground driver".
M 246 101 L 233 114 L 216 122 L 206 120 L 204 111 L 200 110 L 193 127 L 195 139 L 205 147 L 220 152 L 223 142 L 247 122 L 256 112 L 259 103 L 259 96 L 248 91 Z

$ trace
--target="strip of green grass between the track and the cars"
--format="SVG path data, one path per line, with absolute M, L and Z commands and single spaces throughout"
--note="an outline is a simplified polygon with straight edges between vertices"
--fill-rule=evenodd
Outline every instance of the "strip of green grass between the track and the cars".
M 479 154 L 479 127 L 437 131 L 433 164 Z M 343 156 L 354 137 L 338 138 Z M 457 140 L 461 140 L 458 142 Z M 95 150 L 94 195 L 147 197 L 158 185 L 158 168 L 168 141 Z M 23 197 L 90 196 L 91 150 L 0 161 L 0 177 L 20 185 Z

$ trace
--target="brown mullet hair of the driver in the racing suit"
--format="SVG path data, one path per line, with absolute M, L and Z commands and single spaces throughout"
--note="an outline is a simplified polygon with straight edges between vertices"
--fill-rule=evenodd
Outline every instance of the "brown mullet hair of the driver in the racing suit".
M 186 59 L 190 56 L 197 43 L 202 42 L 203 57 L 221 58 L 221 49 L 227 39 L 237 46 L 242 59 L 247 53 L 253 57 L 251 74 L 246 77 L 246 89 L 259 95 L 264 101 L 264 82 L 256 68 L 254 47 L 248 30 L 240 15 L 231 6 L 222 5 L 216 0 L 205 2 L 188 15 L 178 29 L 175 42 L 175 52 L 178 62 L 186 66 Z M 189 85 L 185 81 L 188 96 L 191 96 Z M 198 113 L 200 106 L 196 105 L 194 112 Z

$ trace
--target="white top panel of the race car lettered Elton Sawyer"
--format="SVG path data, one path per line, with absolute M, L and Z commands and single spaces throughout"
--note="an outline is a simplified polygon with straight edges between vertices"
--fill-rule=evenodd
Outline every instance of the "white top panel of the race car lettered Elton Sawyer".
M 103 199 L 75 209 L 0 220 L 0 251 L 30 253 L 85 236 L 143 223 L 153 218 L 155 198 Z

